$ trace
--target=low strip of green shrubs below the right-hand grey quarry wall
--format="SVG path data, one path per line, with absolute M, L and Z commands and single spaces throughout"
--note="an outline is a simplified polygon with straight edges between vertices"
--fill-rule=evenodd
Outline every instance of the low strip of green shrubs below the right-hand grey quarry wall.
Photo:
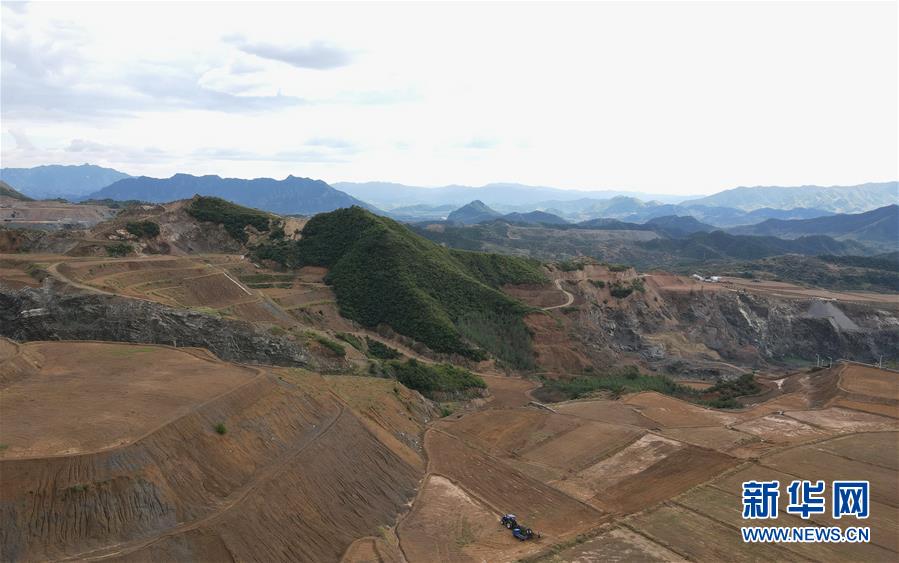
M 608 391 L 617 398 L 625 393 L 658 391 L 681 398 L 695 398 L 698 392 L 666 376 L 644 375 L 634 366 L 625 366 L 597 375 L 571 379 L 545 379 L 537 396 L 551 400 L 579 399 L 598 391 Z

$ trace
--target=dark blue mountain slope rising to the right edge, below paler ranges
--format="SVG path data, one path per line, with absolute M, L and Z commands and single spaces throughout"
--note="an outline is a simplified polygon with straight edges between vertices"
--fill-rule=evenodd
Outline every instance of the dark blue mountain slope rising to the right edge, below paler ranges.
M 730 229 L 730 232 L 785 239 L 827 235 L 837 240 L 858 241 L 889 252 L 899 247 L 899 205 L 888 205 L 865 213 L 831 215 L 816 219 L 792 221 L 768 219 L 756 225 Z

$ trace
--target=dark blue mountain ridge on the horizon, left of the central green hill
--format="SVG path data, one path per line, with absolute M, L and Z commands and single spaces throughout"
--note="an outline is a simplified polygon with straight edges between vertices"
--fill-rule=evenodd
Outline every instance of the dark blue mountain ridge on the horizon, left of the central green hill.
M 372 209 L 369 204 L 335 190 L 321 180 L 295 176 L 284 180 L 243 180 L 190 174 L 175 174 L 171 178 L 141 176 L 119 180 L 87 198 L 164 203 L 194 195 L 216 196 L 282 215 L 313 215 L 353 205 Z

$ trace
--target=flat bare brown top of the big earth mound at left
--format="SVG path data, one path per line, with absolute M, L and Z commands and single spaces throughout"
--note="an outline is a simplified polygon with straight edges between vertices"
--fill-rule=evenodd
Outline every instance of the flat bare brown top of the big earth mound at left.
M 22 347 L 41 368 L 0 395 L 0 442 L 7 446 L 2 459 L 122 446 L 257 376 L 206 354 L 157 346 Z

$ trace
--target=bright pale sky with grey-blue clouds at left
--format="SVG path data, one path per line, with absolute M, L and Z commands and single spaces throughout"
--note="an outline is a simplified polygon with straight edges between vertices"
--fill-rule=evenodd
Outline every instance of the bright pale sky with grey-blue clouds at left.
M 899 177 L 892 2 L 12 3 L 4 167 L 702 194 Z

